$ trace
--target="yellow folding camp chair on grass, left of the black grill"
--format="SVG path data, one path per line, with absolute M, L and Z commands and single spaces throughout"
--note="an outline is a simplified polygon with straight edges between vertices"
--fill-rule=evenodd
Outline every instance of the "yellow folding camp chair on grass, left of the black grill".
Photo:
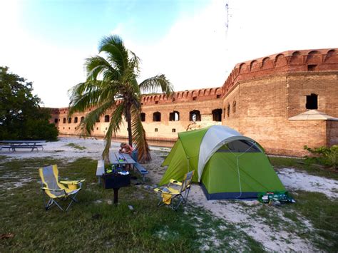
M 65 211 L 57 202 L 57 200 L 71 200 L 68 207 L 66 208 L 66 211 L 69 209 L 69 207 L 71 207 L 73 202 L 78 202 L 76 200 L 76 195 L 81 190 L 82 182 L 85 180 L 58 182 L 57 165 L 40 167 L 39 174 L 41 177 L 43 205 L 45 206 L 46 210 L 49 210 L 53 205 L 56 205 L 62 211 Z M 46 202 L 46 195 L 49 197 L 48 202 Z

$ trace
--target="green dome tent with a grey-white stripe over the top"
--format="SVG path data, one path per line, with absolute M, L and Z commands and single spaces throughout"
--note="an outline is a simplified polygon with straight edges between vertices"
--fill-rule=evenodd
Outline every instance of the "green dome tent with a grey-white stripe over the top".
M 195 170 L 208 200 L 257 198 L 259 192 L 285 191 L 263 148 L 223 125 L 178 133 L 162 166 L 168 166 L 160 185 L 182 180 Z

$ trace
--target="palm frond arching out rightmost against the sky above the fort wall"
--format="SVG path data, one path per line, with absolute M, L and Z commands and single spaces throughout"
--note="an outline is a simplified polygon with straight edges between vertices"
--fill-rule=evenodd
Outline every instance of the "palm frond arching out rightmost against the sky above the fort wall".
M 173 85 L 165 75 L 153 76 L 140 83 L 140 90 L 143 93 L 155 93 L 159 90 L 169 96 L 173 93 Z

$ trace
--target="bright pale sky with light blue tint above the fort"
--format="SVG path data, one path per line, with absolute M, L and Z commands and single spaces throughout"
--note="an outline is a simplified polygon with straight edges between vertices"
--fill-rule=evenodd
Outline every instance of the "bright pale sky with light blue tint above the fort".
M 226 9 L 226 4 L 228 9 Z M 118 34 L 175 91 L 222 86 L 236 63 L 287 50 L 337 48 L 336 0 L 0 0 L 0 66 L 67 107 L 83 63 Z

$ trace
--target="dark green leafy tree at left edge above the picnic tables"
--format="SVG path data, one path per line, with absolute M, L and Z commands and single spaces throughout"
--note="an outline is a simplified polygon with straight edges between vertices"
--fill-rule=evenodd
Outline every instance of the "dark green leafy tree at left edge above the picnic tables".
M 31 82 L 0 67 L 0 140 L 57 140 L 51 111 L 32 91 Z

